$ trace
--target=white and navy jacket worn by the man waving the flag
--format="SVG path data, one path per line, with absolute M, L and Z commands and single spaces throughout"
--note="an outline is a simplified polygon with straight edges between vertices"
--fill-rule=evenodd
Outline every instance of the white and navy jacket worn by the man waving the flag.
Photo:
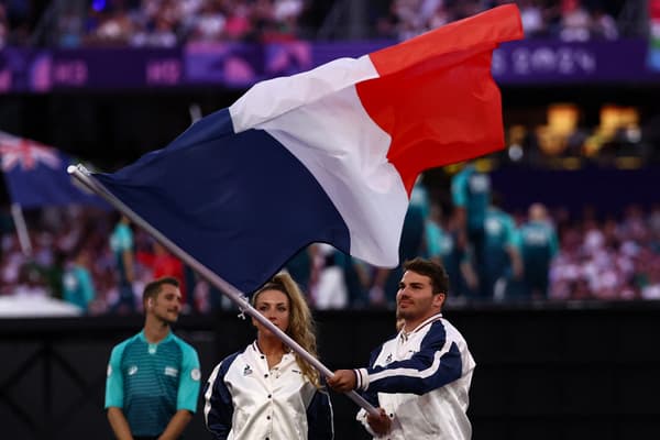
M 475 362 L 459 331 L 438 314 L 407 337 L 399 332 L 372 353 L 367 369 L 355 370 L 358 389 L 392 418 L 391 440 L 466 440 Z M 358 419 L 366 424 L 366 413 Z

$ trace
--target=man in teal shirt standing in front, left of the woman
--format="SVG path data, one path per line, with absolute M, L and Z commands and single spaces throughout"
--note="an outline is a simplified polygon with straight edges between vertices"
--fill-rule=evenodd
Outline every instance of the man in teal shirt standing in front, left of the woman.
M 199 358 L 170 329 L 180 301 L 176 278 L 147 284 L 144 328 L 112 349 L 106 409 L 118 439 L 177 439 L 197 410 Z

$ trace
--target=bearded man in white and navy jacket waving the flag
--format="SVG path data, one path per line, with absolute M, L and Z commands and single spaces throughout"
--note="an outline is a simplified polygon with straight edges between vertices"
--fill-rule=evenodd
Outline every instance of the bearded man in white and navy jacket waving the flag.
M 328 385 L 356 389 L 378 416 L 358 414 L 374 437 L 470 439 L 465 411 L 475 363 L 461 333 L 442 317 L 444 268 L 415 258 L 404 264 L 396 295 L 399 333 L 372 352 L 369 366 L 338 370 Z

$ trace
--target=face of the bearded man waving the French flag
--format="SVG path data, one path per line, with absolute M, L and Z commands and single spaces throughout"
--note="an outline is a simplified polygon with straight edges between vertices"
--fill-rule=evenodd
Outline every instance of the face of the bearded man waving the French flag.
M 417 326 L 440 311 L 440 295 L 433 295 L 431 278 L 416 272 L 406 271 L 396 294 L 396 314 L 407 324 Z M 411 330 L 408 328 L 408 330 Z

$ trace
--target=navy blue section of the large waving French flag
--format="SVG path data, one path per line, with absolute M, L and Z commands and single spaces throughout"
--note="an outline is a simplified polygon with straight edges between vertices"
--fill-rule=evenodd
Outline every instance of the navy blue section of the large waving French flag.
M 350 249 L 344 221 L 309 170 L 265 131 L 234 133 L 228 109 L 167 147 L 95 177 L 244 293 L 309 243 Z

